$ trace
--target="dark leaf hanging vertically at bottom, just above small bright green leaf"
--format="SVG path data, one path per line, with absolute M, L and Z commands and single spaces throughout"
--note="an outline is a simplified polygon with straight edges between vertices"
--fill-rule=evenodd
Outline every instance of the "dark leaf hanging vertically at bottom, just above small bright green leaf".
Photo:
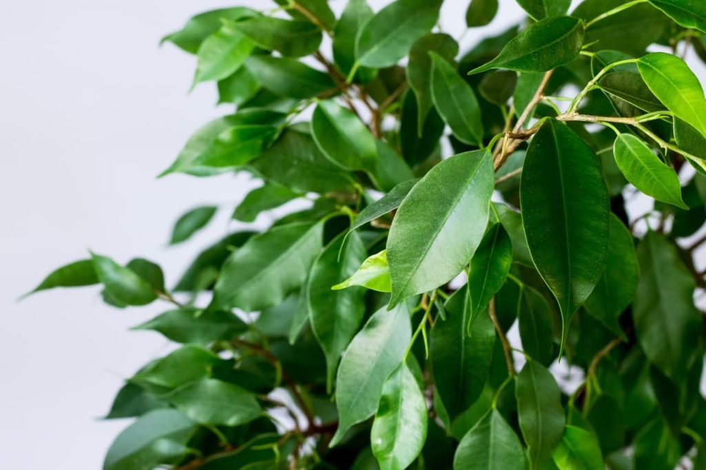
M 549 370 L 537 361 L 527 361 L 517 375 L 515 396 L 530 466 L 542 469 L 564 433 L 561 391 Z

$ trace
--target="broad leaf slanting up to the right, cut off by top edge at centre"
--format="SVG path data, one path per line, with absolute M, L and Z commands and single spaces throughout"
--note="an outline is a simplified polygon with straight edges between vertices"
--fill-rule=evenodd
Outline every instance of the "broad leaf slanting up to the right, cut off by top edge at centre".
M 358 33 L 357 64 L 375 68 L 397 64 L 436 25 L 439 6 L 438 0 L 395 0 L 385 6 Z

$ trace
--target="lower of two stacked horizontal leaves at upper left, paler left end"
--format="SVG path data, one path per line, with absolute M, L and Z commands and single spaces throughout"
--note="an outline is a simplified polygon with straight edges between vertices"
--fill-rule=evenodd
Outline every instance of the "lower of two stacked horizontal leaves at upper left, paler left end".
M 336 86 L 328 73 L 311 68 L 297 59 L 250 56 L 245 66 L 264 88 L 283 97 L 306 100 Z

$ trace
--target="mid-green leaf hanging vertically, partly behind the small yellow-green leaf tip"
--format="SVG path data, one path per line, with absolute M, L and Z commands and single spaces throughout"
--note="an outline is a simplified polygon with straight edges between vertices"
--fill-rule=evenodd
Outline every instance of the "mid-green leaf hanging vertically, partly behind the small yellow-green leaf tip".
M 311 330 L 326 356 L 326 387 L 331 390 L 341 353 L 358 331 L 365 314 L 365 289 L 331 289 L 355 274 L 365 261 L 363 241 L 356 233 L 337 236 L 311 267 L 307 288 Z

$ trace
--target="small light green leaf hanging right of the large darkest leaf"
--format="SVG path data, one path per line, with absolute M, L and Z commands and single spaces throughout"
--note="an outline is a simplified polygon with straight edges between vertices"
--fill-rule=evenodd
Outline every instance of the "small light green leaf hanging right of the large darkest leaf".
M 618 135 L 613 152 L 618 168 L 635 188 L 663 203 L 688 209 L 681 198 L 681 183 L 674 169 L 640 138 L 633 134 Z

